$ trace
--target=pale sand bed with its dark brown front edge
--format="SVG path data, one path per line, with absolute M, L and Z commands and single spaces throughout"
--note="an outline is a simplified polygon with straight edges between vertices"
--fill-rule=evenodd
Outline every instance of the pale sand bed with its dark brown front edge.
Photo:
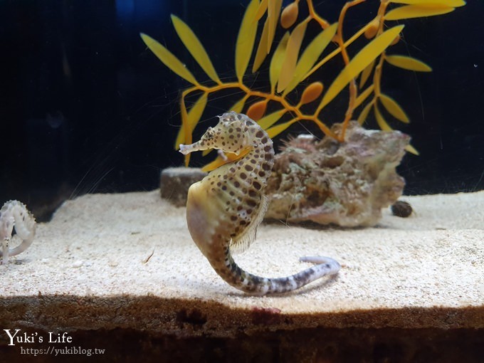
M 263 223 L 236 256 L 267 277 L 300 256 L 343 265 L 296 293 L 254 297 L 227 285 L 191 241 L 185 209 L 159 191 L 67 201 L 31 248 L 0 265 L 0 323 L 43 330 L 133 328 L 231 336 L 295 327 L 484 327 L 484 191 L 404 197 L 408 219 L 377 228 Z

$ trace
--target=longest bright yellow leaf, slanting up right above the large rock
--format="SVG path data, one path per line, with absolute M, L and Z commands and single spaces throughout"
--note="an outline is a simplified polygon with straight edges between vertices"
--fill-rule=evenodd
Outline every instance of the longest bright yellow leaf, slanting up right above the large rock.
M 354 79 L 362 70 L 364 70 L 369 63 L 372 63 L 375 58 L 382 54 L 382 52 L 385 51 L 385 49 L 390 45 L 390 43 L 403 28 L 403 25 L 390 28 L 381 35 L 377 36 L 377 38 L 374 38 L 367 44 L 367 46 L 359 51 L 359 53 L 357 53 L 357 55 L 354 56 L 351 61 L 349 61 L 348 65 L 343 68 L 341 73 L 333 81 L 332 85 L 330 85 L 330 88 L 328 88 L 327 92 L 322 98 L 318 109 L 321 110 L 322 107 L 325 107 L 325 105 L 330 103 L 331 100 L 335 98 L 352 79 Z

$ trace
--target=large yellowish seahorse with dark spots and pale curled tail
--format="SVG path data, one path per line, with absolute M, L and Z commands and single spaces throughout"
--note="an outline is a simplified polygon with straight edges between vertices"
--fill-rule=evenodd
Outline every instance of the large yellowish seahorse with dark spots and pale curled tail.
M 231 251 L 248 248 L 268 208 L 264 189 L 274 164 L 273 142 L 257 122 L 232 111 L 219 116 L 198 142 L 180 144 L 182 154 L 206 149 L 243 154 L 192 184 L 186 202 L 191 238 L 223 280 L 246 293 L 265 295 L 287 293 L 340 270 L 327 257 L 300 258 L 317 265 L 284 278 L 263 278 L 240 268 Z

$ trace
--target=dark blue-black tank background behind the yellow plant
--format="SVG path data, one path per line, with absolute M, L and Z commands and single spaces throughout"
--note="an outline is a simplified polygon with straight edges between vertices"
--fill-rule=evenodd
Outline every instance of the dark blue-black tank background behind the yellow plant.
M 147 50 L 139 33 L 166 45 L 197 79 L 208 80 L 174 33 L 169 14 L 177 14 L 204 43 L 219 76 L 233 80 L 235 40 L 246 4 L 1 0 L 0 204 L 19 199 L 41 215 L 85 193 L 156 188 L 160 169 L 183 160 L 173 144 L 181 122 L 179 90 L 188 84 Z M 337 19 L 342 4 L 315 1 L 329 21 Z M 377 4 L 367 0 L 352 10 L 344 23 L 347 33 L 371 19 Z M 301 12 L 307 14 L 304 6 Z M 384 68 L 384 93 L 411 119 L 408 126 L 391 125 L 409 133 L 421 152 L 407 154 L 399 167 L 406 194 L 484 189 L 482 19 L 481 0 L 469 0 L 451 14 L 411 19 L 405 21 L 404 40 L 392 49 L 433 68 L 432 73 Z M 247 84 L 267 84 L 267 67 L 245 78 Z M 323 83 L 329 85 L 336 74 L 323 74 Z M 342 120 L 346 97 L 330 104 L 325 120 Z M 223 95 L 209 102 L 195 138 L 239 98 Z M 369 127 L 375 127 L 373 120 Z M 308 124 L 290 132 L 305 129 L 321 136 Z M 208 161 L 195 157 L 193 166 Z

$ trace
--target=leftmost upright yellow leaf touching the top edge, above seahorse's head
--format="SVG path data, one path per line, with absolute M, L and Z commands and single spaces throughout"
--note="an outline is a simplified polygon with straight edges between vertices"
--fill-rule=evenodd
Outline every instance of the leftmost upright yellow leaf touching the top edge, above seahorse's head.
M 254 21 L 259 6 L 259 0 L 252 0 L 248 4 L 246 13 L 243 14 L 241 28 L 238 31 L 236 42 L 236 75 L 242 83 L 243 75 L 246 73 L 248 62 L 251 60 L 254 41 L 256 40 L 257 24 Z

